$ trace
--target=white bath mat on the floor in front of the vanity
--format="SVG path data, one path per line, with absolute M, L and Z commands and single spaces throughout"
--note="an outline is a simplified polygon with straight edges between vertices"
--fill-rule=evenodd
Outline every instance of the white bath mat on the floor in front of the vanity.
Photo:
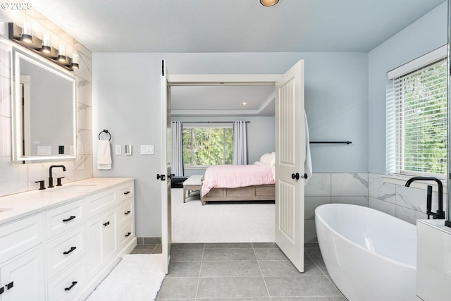
M 128 254 L 87 301 L 154 300 L 165 274 L 161 254 Z

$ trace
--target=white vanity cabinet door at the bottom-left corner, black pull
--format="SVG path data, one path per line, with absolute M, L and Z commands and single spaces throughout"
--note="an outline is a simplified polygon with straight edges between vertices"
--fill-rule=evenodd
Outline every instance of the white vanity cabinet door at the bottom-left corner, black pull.
M 45 299 L 43 247 L 27 252 L 0 267 L 4 293 L 1 301 L 38 301 Z

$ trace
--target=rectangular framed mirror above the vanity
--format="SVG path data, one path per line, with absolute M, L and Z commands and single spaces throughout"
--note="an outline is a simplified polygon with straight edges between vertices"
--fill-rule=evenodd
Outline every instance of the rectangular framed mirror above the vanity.
M 13 161 L 75 160 L 76 78 L 16 47 L 12 59 Z

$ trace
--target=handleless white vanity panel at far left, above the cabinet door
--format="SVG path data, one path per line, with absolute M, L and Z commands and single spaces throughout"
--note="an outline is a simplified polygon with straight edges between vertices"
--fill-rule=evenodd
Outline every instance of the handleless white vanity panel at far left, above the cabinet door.
M 44 242 L 44 214 L 0 226 L 0 263 Z

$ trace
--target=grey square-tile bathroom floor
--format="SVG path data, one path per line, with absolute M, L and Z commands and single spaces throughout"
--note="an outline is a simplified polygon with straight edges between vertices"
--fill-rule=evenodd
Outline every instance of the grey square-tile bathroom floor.
M 161 245 L 137 245 L 158 253 Z M 273 242 L 174 244 L 156 300 L 345 301 L 328 278 L 317 243 L 299 273 Z

